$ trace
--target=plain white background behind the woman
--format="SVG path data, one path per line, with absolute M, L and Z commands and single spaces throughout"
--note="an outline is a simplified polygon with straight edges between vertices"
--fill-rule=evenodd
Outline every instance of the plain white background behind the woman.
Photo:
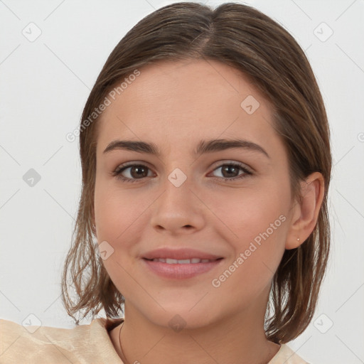
M 34 314 L 45 326 L 73 327 L 60 300 L 60 274 L 81 168 L 78 141 L 65 135 L 77 128 L 122 36 L 173 2 L 0 0 L 1 319 L 21 323 Z M 281 23 L 306 51 L 332 132 L 331 260 L 314 320 L 289 346 L 311 364 L 364 363 L 364 1 L 245 4 Z M 41 29 L 33 42 L 22 34 L 36 34 L 31 22 Z M 333 31 L 326 41 L 316 36 L 328 35 L 322 22 Z M 23 181 L 30 168 L 41 176 L 33 187 Z

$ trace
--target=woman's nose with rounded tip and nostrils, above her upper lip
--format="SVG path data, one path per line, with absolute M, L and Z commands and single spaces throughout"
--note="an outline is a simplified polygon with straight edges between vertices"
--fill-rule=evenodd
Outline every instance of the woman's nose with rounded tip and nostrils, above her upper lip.
M 157 232 L 178 235 L 203 228 L 206 207 L 190 187 L 188 180 L 177 187 L 166 178 L 164 191 L 152 205 L 151 225 Z

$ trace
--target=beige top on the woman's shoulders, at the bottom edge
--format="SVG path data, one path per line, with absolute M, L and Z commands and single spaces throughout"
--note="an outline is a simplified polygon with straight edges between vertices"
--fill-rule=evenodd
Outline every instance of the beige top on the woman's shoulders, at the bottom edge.
M 123 364 L 109 338 L 109 331 L 122 321 L 94 319 L 89 325 L 54 328 L 0 319 L 0 364 Z M 268 364 L 309 363 L 282 344 Z

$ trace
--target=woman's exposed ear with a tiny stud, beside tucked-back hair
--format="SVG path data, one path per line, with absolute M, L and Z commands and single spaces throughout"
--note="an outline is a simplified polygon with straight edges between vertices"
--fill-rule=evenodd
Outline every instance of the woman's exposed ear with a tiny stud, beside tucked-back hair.
M 321 173 L 311 173 L 301 182 L 301 200 L 292 207 L 291 226 L 287 233 L 286 249 L 299 247 L 314 230 L 319 216 L 323 195 L 324 179 Z

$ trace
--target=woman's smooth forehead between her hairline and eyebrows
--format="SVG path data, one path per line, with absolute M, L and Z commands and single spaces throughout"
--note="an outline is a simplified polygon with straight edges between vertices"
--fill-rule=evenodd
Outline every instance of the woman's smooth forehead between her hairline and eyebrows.
M 229 65 L 164 60 L 139 72 L 102 113 L 98 149 L 117 137 L 166 143 L 238 135 L 264 142 L 274 134 L 269 102 Z

